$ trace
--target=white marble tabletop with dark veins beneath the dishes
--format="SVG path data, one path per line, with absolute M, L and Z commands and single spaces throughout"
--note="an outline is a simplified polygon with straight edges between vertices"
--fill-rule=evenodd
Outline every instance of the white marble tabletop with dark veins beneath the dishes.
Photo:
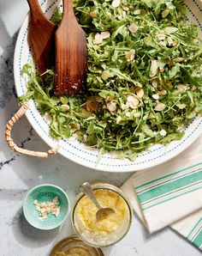
M 17 109 L 13 79 L 16 35 L 27 14 L 25 0 L 0 0 L 0 256 L 44 256 L 62 238 L 74 234 L 70 216 L 60 229 L 40 231 L 30 226 L 22 214 L 22 200 L 31 187 L 52 183 L 62 186 L 74 202 L 78 186 L 86 180 L 109 180 L 120 186 L 131 174 L 112 174 L 82 168 L 61 155 L 43 160 L 15 154 L 4 141 L 4 127 Z M 22 119 L 13 131 L 15 142 L 28 149 L 47 146 Z M 200 252 L 171 229 L 149 235 L 137 218 L 128 235 L 113 247 L 103 249 L 106 256 L 198 256 Z

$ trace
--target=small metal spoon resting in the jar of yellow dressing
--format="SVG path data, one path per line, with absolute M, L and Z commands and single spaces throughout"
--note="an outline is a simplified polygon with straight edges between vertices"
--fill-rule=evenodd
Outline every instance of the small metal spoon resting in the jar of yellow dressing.
M 98 211 L 96 212 L 97 221 L 101 221 L 109 214 L 115 213 L 115 210 L 111 209 L 110 207 L 103 208 L 100 206 L 100 204 L 98 204 L 97 199 L 92 193 L 92 186 L 89 182 L 85 182 L 83 185 L 80 186 L 80 192 L 86 194 L 86 196 L 92 200 L 93 204 L 98 207 Z

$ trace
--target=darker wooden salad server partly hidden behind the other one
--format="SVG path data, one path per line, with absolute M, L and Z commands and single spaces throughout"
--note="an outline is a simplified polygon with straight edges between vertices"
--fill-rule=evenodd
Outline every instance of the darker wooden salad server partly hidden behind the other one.
M 39 73 L 55 66 L 55 32 L 56 26 L 43 13 L 39 0 L 27 0 L 30 7 L 31 24 L 28 41 L 33 57 L 38 64 Z

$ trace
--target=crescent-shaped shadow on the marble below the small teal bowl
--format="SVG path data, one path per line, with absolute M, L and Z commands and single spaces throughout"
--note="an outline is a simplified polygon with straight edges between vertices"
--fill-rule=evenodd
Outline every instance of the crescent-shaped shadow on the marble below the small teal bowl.
M 51 230 L 35 229 L 25 219 L 22 208 L 19 209 L 13 221 L 7 223 L 12 227 L 16 241 L 24 247 L 45 247 L 56 239 L 60 228 Z

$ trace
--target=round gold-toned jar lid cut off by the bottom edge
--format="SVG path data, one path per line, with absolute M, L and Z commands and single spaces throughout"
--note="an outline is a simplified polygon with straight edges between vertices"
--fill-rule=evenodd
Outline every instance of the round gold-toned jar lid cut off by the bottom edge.
M 50 252 L 50 256 L 104 256 L 100 248 L 90 247 L 77 235 L 68 236 L 59 241 Z

